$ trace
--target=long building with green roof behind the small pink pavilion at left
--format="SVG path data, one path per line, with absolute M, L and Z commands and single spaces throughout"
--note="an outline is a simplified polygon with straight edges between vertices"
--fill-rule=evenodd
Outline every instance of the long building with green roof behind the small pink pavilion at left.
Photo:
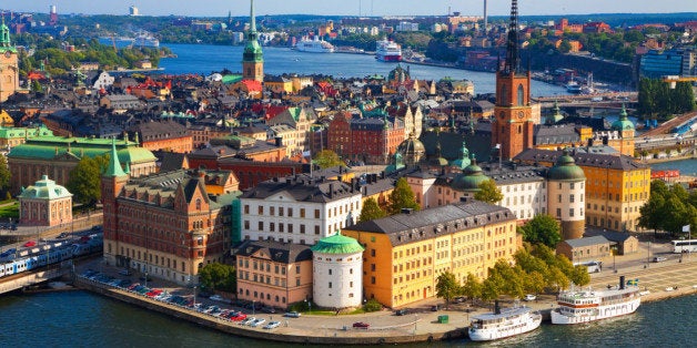
M 131 177 L 155 173 L 156 158 L 147 149 L 129 140 L 117 142 L 119 162 L 125 165 Z M 94 158 L 110 155 L 111 140 L 37 136 L 12 147 L 8 154 L 8 167 L 12 175 L 10 191 L 13 194 L 29 186 L 42 175 L 53 177 L 58 185 L 65 185 L 72 171 L 84 156 Z

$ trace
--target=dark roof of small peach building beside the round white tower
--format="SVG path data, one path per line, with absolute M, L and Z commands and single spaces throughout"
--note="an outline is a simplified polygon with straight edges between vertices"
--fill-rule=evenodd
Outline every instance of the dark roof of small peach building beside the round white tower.
M 312 259 L 310 246 L 274 240 L 244 240 L 244 243 L 235 249 L 235 255 L 270 258 L 281 264 L 292 264 Z

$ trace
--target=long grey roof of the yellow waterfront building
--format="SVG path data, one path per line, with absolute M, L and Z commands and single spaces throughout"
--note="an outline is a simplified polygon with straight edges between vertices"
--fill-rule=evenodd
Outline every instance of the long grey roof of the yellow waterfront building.
M 515 219 L 508 208 L 471 201 L 363 222 L 346 229 L 385 234 L 397 246 Z

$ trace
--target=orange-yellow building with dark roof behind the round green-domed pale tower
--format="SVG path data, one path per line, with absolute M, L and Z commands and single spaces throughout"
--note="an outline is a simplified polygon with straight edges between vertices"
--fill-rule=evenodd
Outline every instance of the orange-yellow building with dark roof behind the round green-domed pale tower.
M 586 174 L 586 225 L 612 231 L 637 231 L 639 209 L 648 202 L 651 170 L 633 157 L 594 154 L 578 149 L 572 156 Z M 531 149 L 516 157 L 552 166 L 562 151 Z

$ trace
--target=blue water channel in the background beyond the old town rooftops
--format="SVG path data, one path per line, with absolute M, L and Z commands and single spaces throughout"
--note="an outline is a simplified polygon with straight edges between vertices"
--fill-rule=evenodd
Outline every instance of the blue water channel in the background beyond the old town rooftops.
M 160 68 L 171 74 L 211 74 L 214 71 L 228 69 L 232 72 L 242 71 L 241 45 L 211 45 L 211 44 L 163 44 L 172 50 L 178 58 L 163 58 Z M 375 60 L 368 54 L 348 53 L 306 53 L 289 48 L 264 48 L 264 72 L 273 75 L 283 73 L 325 74 L 334 78 L 364 78 L 373 74 L 387 76 L 397 63 L 386 63 Z M 412 79 L 441 80 L 445 76 L 455 80 L 467 79 L 474 82 L 475 93 L 494 93 L 496 89 L 495 74 L 489 72 L 468 71 L 461 69 L 416 65 L 402 63 L 410 68 Z M 539 81 L 532 82 L 534 96 L 568 94 L 566 89 Z

